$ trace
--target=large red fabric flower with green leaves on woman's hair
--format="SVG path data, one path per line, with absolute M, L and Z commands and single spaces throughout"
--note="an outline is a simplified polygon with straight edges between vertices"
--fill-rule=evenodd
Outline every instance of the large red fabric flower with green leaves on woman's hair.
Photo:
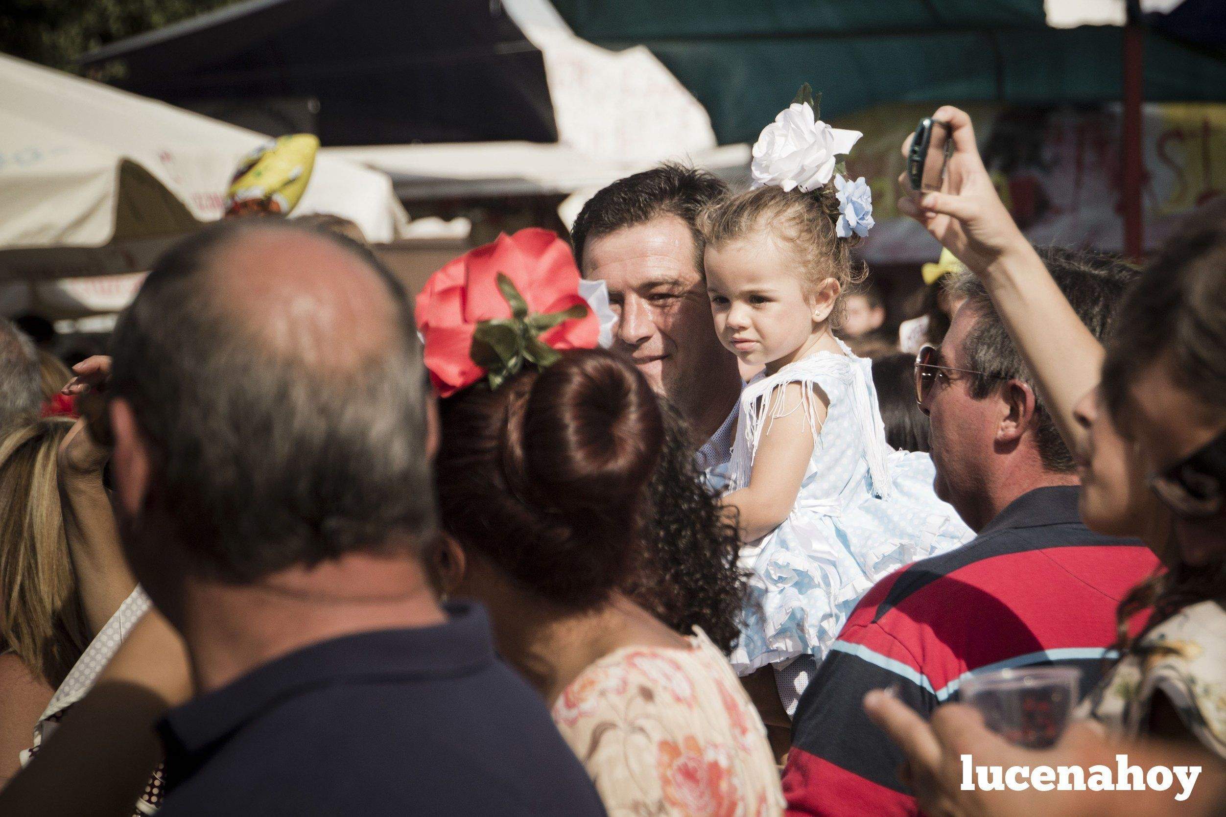
M 582 315 L 560 315 L 573 307 Z M 538 228 L 504 233 L 444 266 L 417 296 L 416 315 L 440 397 L 485 376 L 497 387 L 524 361 L 547 365 L 538 358 L 548 349 L 591 349 L 600 336 L 570 247 Z

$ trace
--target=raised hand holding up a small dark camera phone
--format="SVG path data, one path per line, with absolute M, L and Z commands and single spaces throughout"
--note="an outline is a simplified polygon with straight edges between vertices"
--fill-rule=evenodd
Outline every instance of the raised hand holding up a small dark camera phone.
M 1004 202 L 997 195 L 980 148 L 975 143 L 971 118 L 964 110 L 945 105 L 933 119 L 949 122 L 954 152 L 945 168 L 943 192 L 912 190 L 907 174 L 899 176 L 902 197 L 899 209 L 916 219 L 977 276 L 987 274 L 993 265 L 1010 255 L 1031 252 Z M 902 154 L 911 148 L 908 136 Z

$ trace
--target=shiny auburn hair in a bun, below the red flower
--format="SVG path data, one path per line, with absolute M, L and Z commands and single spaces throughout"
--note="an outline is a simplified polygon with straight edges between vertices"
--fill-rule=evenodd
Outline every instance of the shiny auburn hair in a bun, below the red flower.
M 521 584 L 574 608 L 598 604 L 620 587 L 639 548 L 640 512 L 663 445 L 660 403 L 634 364 L 602 349 L 563 352 L 483 397 L 444 401 L 439 496 L 444 525 Z M 484 424 L 492 440 L 488 479 L 482 458 L 450 461 L 456 446 L 479 450 L 474 424 L 457 424 L 447 403 L 501 412 Z M 490 418 L 494 419 L 494 418 Z M 476 446 L 476 447 L 474 447 Z M 476 473 L 474 470 L 476 469 Z M 476 489 L 462 506 L 449 492 Z

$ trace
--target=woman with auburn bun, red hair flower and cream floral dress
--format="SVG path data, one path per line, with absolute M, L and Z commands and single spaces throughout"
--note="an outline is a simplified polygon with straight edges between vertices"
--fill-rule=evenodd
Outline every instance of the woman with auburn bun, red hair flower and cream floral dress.
M 447 265 L 418 299 L 443 394 L 440 583 L 488 608 L 499 653 L 550 704 L 611 815 L 779 815 L 765 729 L 727 659 L 700 626 L 669 626 L 710 621 L 727 642 L 734 555 L 711 554 L 707 578 L 682 589 L 669 576 L 685 567 L 653 549 L 695 511 L 717 546 L 732 540 L 682 465 L 683 429 L 629 360 L 591 348 L 577 283 L 562 241 L 522 230 Z M 677 476 L 691 486 L 657 490 L 652 507 L 649 483 Z M 693 565 L 702 533 L 672 552 Z

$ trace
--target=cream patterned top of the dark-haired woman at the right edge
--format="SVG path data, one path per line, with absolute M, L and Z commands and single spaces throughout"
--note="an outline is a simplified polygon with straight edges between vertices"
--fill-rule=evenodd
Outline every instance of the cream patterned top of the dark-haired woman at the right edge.
M 1145 633 L 1076 715 L 1139 737 L 1157 692 L 1205 748 L 1226 757 L 1226 610 L 1219 603 L 1187 606 Z

